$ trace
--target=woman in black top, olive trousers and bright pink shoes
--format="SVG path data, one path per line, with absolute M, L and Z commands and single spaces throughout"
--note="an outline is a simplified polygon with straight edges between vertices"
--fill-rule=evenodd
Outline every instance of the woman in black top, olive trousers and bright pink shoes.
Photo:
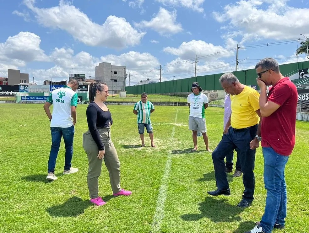
M 127 196 L 132 193 L 120 187 L 120 162 L 115 146 L 111 141 L 113 119 L 111 118 L 111 112 L 104 104 L 108 95 L 108 86 L 105 82 L 90 84 L 90 104 L 86 110 L 89 130 L 83 134 L 83 148 L 88 155 L 89 161 L 87 183 L 90 202 L 96 205 L 105 204 L 98 194 L 102 159 L 109 172 L 113 195 Z

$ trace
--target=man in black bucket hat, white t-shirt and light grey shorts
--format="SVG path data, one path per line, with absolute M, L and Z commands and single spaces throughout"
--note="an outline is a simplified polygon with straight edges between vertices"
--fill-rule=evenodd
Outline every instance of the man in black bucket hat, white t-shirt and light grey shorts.
M 208 107 L 207 95 L 201 93 L 202 89 L 198 82 L 193 82 L 191 91 L 192 94 L 188 95 L 187 102 L 190 108 L 189 114 L 189 130 L 192 130 L 192 139 L 194 148 L 191 151 L 198 149 L 198 131 L 202 133 L 206 150 L 211 152 L 208 146 L 208 136 L 206 133 L 205 123 L 205 109 Z

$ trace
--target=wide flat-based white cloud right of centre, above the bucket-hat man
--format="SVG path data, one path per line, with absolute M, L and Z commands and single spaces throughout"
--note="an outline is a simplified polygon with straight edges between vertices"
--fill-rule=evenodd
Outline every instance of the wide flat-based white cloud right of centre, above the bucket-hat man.
M 188 60 L 192 59 L 196 55 L 206 55 L 206 54 L 214 54 L 206 59 L 214 59 L 219 57 L 230 57 L 234 56 L 233 51 L 226 51 L 222 46 L 214 46 L 213 44 L 206 43 L 205 41 L 196 41 L 192 40 L 189 42 L 182 42 L 182 44 L 178 48 L 174 47 L 166 47 L 163 49 L 166 53 L 170 53 L 176 56 L 179 56 L 181 59 Z M 216 54 L 218 53 L 218 54 Z

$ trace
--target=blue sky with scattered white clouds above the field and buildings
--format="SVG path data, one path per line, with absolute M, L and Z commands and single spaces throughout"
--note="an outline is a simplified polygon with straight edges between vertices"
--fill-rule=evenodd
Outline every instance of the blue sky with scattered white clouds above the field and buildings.
M 108 2 L 108 3 L 107 3 Z M 20 69 L 41 84 L 95 76 L 100 62 L 124 65 L 131 85 L 253 68 L 264 57 L 295 57 L 309 37 L 308 0 L 2 1 L 0 76 Z M 300 41 L 298 41 L 300 39 Z M 268 46 L 267 46 L 268 43 Z M 127 80 L 128 82 L 128 80 Z

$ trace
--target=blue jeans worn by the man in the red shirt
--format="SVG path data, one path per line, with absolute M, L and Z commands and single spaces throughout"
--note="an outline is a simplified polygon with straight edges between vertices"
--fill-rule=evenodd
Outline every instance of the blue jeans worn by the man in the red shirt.
M 289 156 L 278 154 L 271 147 L 263 147 L 263 156 L 264 184 L 267 196 L 261 226 L 265 233 L 270 233 L 275 223 L 285 225 L 286 183 L 284 169 Z

